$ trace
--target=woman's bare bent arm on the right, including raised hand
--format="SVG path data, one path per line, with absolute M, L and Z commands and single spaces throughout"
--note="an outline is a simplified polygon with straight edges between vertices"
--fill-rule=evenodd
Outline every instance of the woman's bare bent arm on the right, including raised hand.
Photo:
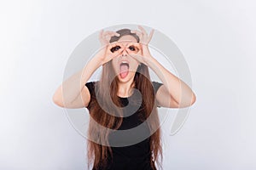
M 171 108 L 182 108 L 193 105 L 196 98 L 191 88 L 178 77 L 174 76 L 170 71 L 166 70 L 166 68 L 163 65 L 160 65 L 160 63 L 150 54 L 148 42 L 151 40 L 154 30 L 152 30 L 148 36 L 142 26 L 138 27 L 141 31 L 135 30 L 133 32 L 137 33 L 141 39 L 143 55 L 133 55 L 133 57 L 145 65 L 148 65 L 163 82 L 164 85 L 159 88 L 156 94 L 158 105 Z

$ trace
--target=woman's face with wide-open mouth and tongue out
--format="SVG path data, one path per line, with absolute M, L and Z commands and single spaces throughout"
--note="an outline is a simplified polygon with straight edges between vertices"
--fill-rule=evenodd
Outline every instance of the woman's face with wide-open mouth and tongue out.
M 141 48 L 135 37 L 126 35 L 119 38 L 119 45 L 112 48 L 113 53 L 119 53 L 119 56 L 112 59 L 113 69 L 120 82 L 128 82 L 133 79 L 140 64 L 137 59 L 129 54 L 141 54 Z

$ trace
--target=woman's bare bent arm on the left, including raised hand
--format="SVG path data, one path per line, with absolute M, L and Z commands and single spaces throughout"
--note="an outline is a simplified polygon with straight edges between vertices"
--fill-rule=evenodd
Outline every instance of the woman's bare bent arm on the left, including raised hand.
M 100 32 L 99 38 L 103 48 L 84 65 L 81 71 L 67 78 L 67 80 L 62 82 L 56 89 L 52 97 L 55 105 L 65 108 L 82 108 L 88 106 L 90 102 L 90 92 L 85 86 L 85 83 L 88 82 L 96 69 L 113 59 L 113 57 L 118 56 L 118 54 L 112 54 L 110 52 L 110 48 L 112 48 L 115 43 L 108 44 L 109 38 L 113 35 L 119 36 L 119 34 L 113 31 Z

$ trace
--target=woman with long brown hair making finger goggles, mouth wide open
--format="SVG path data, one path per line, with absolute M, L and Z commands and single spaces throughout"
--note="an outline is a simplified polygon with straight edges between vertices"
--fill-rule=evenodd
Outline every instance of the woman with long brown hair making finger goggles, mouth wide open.
M 167 71 L 150 54 L 148 42 L 154 30 L 148 35 L 142 26 L 138 28 L 134 31 L 101 31 L 99 39 L 102 49 L 90 59 L 83 71 L 63 82 L 53 96 L 55 104 L 61 107 L 85 106 L 89 110 L 88 136 L 94 140 L 88 140 L 88 159 L 93 162 L 93 170 L 149 170 L 156 169 L 154 162 L 161 167 L 160 122 L 156 107 L 181 108 L 195 103 L 195 94 L 189 86 Z M 101 79 L 88 82 L 100 66 Z M 148 67 L 160 77 L 161 82 L 150 81 Z M 74 80 L 80 79 L 80 88 L 75 90 Z M 65 99 L 61 92 L 64 85 L 69 89 L 65 92 L 68 96 Z M 142 100 L 139 100 L 135 89 L 139 90 Z M 138 108 L 137 111 L 131 111 L 134 107 Z M 147 139 L 123 147 L 111 146 L 110 143 L 116 140 L 108 129 L 131 129 L 145 120 L 148 126 L 144 132 L 151 134 Z M 108 128 L 99 130 L 93 121 Z M 107 145 L 101 141 L 107 142 Z

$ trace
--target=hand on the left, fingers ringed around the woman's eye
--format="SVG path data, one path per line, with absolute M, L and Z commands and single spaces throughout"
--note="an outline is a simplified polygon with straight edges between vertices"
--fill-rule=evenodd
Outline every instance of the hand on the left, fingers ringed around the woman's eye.
M 117 36 L 119 37 L 119 33 L 115 31 L 100 31 L 99 40 L 102 44 L 102 48 L 100 49 L 98 56 L 101 60 L 101 65 L 104 65 L 109 60 L 120 54 L 119 48 L 124 48 L 120 42 L 111 42 L 109 40 L 111 37 Z

